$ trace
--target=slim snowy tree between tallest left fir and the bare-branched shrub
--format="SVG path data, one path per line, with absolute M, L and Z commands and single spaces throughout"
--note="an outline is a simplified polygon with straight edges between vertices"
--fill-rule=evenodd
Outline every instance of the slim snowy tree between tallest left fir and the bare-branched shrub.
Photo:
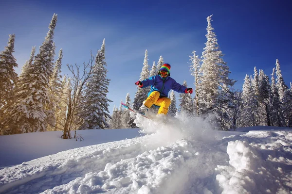
M 56 130 L 55 124 L 56 124 L 56 111 L 60 109 L 60 98 L 62 96 L 63 91 L 63 85 L 60 75 L 61 73 L 61 66 L 62 66 L 62 59 L 63 59 L 63 50 L 60 49 L 58 59 L 55 62 L 55 67 L 53 70 L 52 77 L 50 79 L 49 83 L 49 95 L 50 95 L 50 110 L 52 110 L 52 113 L 50 116 L 48 115 L 47 121 L 49 122 L 48 130 Z

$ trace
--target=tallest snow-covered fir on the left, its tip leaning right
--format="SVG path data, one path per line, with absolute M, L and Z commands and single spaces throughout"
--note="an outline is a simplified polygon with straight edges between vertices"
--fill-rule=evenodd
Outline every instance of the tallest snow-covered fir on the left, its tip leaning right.
M 23 73 L 19 81 L 18 93 L 10 110 L 7 111 L 4 124 L 6 134 L 46 130 L 46 119 L 50 110 L 45 108 L 50 104 L 48 88 L 53 72 L 52 54 L 55 52 L 53 38 L 56 22 L 57 15 L 54 14 L 49 32 L 39 48 L 34 64 L 27 65 L 24 71 L 29 73 Z

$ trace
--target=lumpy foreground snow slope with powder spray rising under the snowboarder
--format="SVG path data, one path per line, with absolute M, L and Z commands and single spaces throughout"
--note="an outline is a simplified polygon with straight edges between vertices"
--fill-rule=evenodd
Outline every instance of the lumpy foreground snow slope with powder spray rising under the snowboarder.
M 164 124 L 139 118 L 137 124 L 145 136 L 79 147 L 0 170 L 0 193 L 292 191 L 291 129 L 223 132 L 185 117 Z

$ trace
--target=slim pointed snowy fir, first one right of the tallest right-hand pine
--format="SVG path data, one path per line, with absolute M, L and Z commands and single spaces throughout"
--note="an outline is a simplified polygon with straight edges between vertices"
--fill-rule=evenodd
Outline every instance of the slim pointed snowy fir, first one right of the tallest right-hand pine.
M 244 127 L 256 126 L 255 98 L 253 94 L 252 81 L 249 75 L 245 76 L 242 87 L 242 119 L 245 121 Z

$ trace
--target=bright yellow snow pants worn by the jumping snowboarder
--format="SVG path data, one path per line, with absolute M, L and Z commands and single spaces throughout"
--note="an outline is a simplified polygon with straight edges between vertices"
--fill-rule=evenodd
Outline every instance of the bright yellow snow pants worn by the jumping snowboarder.
M 168 97 L 159 97 L 160 93 L 155 91 L 152 92 L 146 100 L 144 100 L 143 104 L 150 108 L 153 104 L 160 106 L 158 110 L 158 114 L 166 114 L 168 112 L 168 107 L 170 105 L 170 99 Z

